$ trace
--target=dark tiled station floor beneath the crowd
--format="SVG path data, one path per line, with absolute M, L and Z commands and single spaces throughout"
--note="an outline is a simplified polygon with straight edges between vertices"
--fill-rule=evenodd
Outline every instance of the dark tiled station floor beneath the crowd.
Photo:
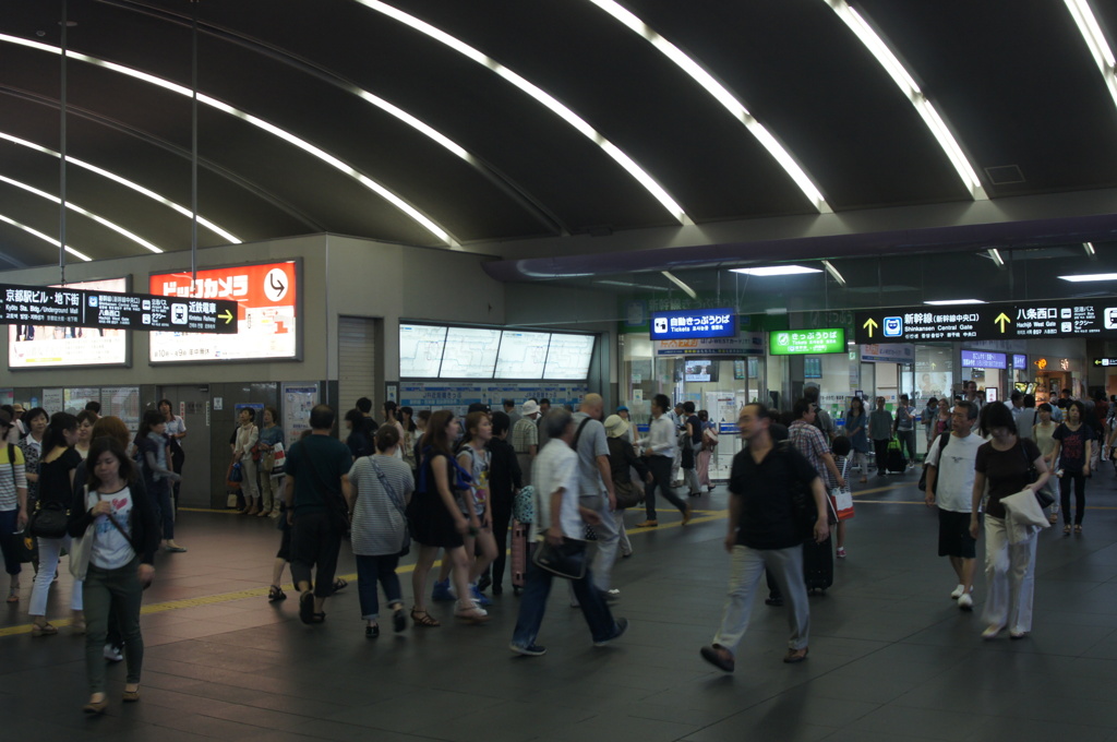
M 179 541 L 190 551 L 161 555 L 145 598 L 165 610 L 143 618 L 142 702 L 116 702 L 115 666 L 107 714 L 83 716 L 83 639 L 21 628 L 25 577 L 21 602 L 0 608 L 0 739 L 1117 742 L 1117 478 L 1090 483 L 1082 538 L 1041 534 L 1031 637 L 987 643 L 984 580 L 977 610 L 957 610 L 936 517 L 914 479 L 861 485 L 850 556 L 829 593 L 811 599 L 810 659 L 780 662 L 783 612 L 758 602 L 732 676 L 698 657 L 725 590 L 724 488 L 695 501 L 706 513 L 686 529 L 666 510 L 658 531 L 633 529 L 636 555 L 614 570 L 617 613 L 631 628 L 614 645 L 591 646 L 556 583 L 540 658 L 507 649 L 510 590 L 487 626 L 456 626 L 437 605 L 442 628 L 370 641 L 353 584 L 327 603 L 325 625 L 304 626 L 294 599 L 264 597 L 274 522 L 183 513 Z M 354 571 L 343 546 L 341 572 Z M 65 612 L 67 584 L 64 574 L 51 615 Z

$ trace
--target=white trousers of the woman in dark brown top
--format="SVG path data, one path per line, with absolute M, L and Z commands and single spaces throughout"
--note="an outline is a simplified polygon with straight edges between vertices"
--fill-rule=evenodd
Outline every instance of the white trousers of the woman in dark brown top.
M 985 622 L 1010 631 L 1032 630 L 1037 536 L 1009 543 L 1004 519 L 985 515 Z

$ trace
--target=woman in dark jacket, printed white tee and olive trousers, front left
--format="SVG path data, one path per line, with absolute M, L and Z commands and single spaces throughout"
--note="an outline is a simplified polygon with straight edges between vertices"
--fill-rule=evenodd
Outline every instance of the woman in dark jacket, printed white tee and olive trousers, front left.
M 89 473 L 70 505 L 68 531 L 75 539 L 92 539 L 92 543 L 75 546 L 87 561 L 78 559 L 70 570 L 75 578 L 85 579 L 85 668 L 90 696 L 83 711 L 102 714 L 108 705 L 103 648 L 111 608 L 121 625 L 127 660 L 123 700 L 140 700 L 140 605 L 155 572 L 160 533 L 155 507 L 146 491 L 136 486 L 135 468 L 118 440 L 108 436 L 94 439 L 87 462 Z

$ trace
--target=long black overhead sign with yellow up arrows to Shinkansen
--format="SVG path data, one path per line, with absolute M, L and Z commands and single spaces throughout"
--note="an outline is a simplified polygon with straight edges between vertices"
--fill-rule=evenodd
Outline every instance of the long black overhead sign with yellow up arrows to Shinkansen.
M 858 343 L 1117 337 L 1117 297 L 858 312 Z

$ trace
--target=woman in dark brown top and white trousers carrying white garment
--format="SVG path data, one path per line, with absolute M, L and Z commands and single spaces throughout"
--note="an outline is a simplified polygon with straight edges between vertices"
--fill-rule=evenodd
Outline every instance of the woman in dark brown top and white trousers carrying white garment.
M 1032 630 L 1032 597 L 1035 592 L 1035 533 L 1011 543 L 1006 512 L 1001 500 L 1024 489 L 1038 492 L 1050 477 L 1047 463 L 1031 438 L 1016 435 L 1016 424 L 1004 402 L 991 402 L 981 411 L 981 435 L 990 440 L 977 449 L 974 462 L 973 510 L 970 535 L 977 538 L 978 512 L 985 497 L 985 601 L 986 628 L 983 639 L 992 639 L 1009 628 L 1009 636 L 1022 639 Z M 1031 482 L 1031 470 L 1038 477 Z

